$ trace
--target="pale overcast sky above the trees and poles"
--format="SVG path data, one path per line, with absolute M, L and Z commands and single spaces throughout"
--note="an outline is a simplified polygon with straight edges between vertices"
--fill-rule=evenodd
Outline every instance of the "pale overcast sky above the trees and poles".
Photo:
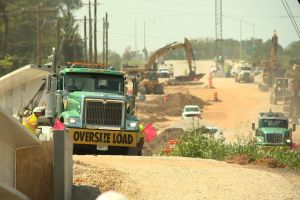
M 300 5 L 297 0 L 286 0 L 300 26 Z M 83 0 L 88 3 L 88 0 Z M 94 3 L 94 0 L 91 0 Z M 255 38 L 272 37 L 273 30 L 279 43 L 286 47 L 299 40 L 281 0 L 223 0 L 223 38 L 250 39 L 255 28 Z M 144 48 L 144 23 L 146 48 L 154 51 L 174 41 L 215 38 L 214 0 L 98 0 L 98 49 L 102 50 L 102 18 L 108 12 L 109 49 L 120 54 L 127 46 Z M 92 9 L 92 11 L 94 11 Z M 77 19 L 88 17 L 88 6 L 75 12 Z M 92 12 L 93 17 L 93 12 Z M 83 37 L 83 22 L 78 22 Z M 253 25 L 254 24 L 254 25 Z M 137 26 L 136 26 L 137 25 Z M 137 27 L 137 28 L 135 28 Z M 135 45 L 137 32 L 137 45 Z

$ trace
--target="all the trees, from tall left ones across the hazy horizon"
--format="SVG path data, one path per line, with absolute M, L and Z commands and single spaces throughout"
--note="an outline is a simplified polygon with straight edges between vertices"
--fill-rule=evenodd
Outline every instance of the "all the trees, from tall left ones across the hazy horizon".
M 81 0 L 0 0 L 0 76 L 26 64 L 37 63 L 39 42 L 43 63 L 51 61 L 52 48 L 57 46 L 60 47 L 60 63 L 83 61 L 84 41 L 79 34 L 78 19 L 73 14 L 81 6 Z M 38 9 L 45 11 L 38 13 Z M 38 33 L 40 41 L 37 40 Z M 196 60 L 215 59 L 214 38 L 190 40 Z M 271 45 L 271 37 L 267 41 L 248 39 L 241 43 L 225 39 L 224 58 L 257 63 L 269 59 Z M 116 69 L 122 64 L 142 65 L 147 61 L 148 53 L 145 52 L 146 49 L 135 51 L 130 46 L 124 49 L 122 55 L 110 50 L 109 63 Z M 285 48 L 279 44 L 277 54 L 280 65 L 288 67 L 291 60 L 300 58 L 300 41 L 292 42 Z M 102 60 L 102 53 L 98 56 L 98 60 Z M 185 52 L 183 49 L 173 50 L 164 59 L 184 60 Z

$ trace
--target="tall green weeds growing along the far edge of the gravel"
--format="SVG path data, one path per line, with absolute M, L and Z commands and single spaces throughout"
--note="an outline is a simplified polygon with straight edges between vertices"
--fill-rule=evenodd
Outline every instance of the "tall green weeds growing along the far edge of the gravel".
M 231 156 L 246 155 L 253 162 L 269 157 L 289 167 L 300 168 L 300 150 L 287 150 L 282 147 L 264 149 L 258 147 L 251 138 L 226 142 L 208 135 L 205 127 L 184 132 L 171 155 L 220 161 L 224 161 Z

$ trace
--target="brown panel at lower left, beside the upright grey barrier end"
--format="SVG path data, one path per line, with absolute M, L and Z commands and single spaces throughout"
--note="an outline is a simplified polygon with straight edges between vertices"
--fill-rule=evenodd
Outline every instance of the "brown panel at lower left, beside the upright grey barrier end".
M 53 199 L 53 142 L 17 150 L 16 189 L 32 200 Z

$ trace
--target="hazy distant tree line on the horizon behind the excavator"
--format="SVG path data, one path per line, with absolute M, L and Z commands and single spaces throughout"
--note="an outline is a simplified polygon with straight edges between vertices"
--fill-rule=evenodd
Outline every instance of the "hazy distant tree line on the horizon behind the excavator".
M 191 39 L 190 41 L 192 43 L 195 60 L 216 59 L 216 43 L 214 38 L 197 38 Z M 225 61 L 244 60 L 251 64 L 257 64 L 260 61 L 270 59 L 271 47 L 271 38 L 266 41 L 263 41 L 262 39 L 248 39 L 242 40 L 242 42 L 234 39 L 224 39 L 224 59 Z M 124 50 L 122 58 L 124 63 L 141 63 L 138 62 L 141 58 L 144 58 L 143 62 L 147 62 L 147 59 L 141 51 L 133 51 L 130 47 L 127 47 Z M 164 60 L 184 59 L 184 49 L 170 50 L 166 55 L 164 55 Z M 294 60 L 300 61 L 300 41 L 292 42 L 285 48 L 282 47 L 279 42 L 277 47 L 278 66 L 289 68 Z

